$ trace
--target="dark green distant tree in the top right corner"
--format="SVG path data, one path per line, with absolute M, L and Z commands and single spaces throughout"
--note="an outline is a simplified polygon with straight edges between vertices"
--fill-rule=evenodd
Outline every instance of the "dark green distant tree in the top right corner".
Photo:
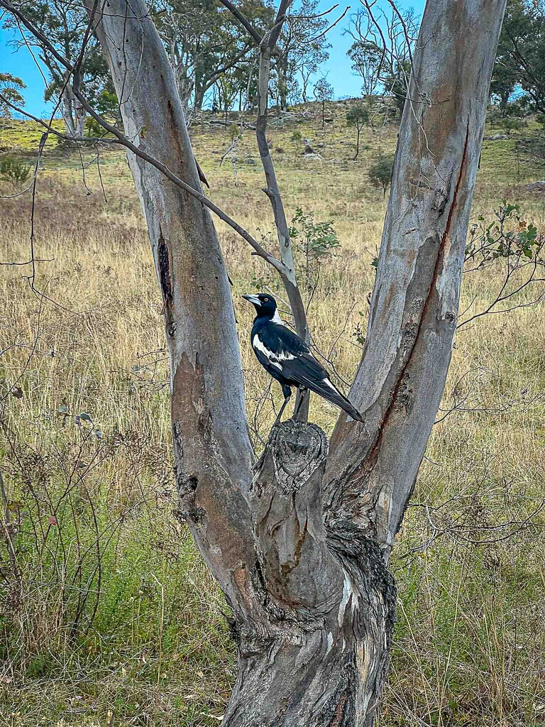
M 507 1 L 491 84 L 501 109 L 517 85 L 545 113 L 545 6 L 538 0 Z

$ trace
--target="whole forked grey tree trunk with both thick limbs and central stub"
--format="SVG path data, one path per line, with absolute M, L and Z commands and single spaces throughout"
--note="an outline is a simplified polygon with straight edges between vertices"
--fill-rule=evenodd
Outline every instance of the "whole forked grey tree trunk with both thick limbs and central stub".
M 451 359 L 464 245 L 505 0 L 427 3 L 351 399 L 365 423 L 275 427 L 252 471 L 233 305 L 206 209 L 129 158 L 164 302 L 177 485 L 233 607 L 227 727 L 370 726 L 395 610 L 393 540 Z M 86 0 L 91 6 L 92 1 Z M 97 28 L 129 137 L 190 185 L 174 76 L 142 0 Z

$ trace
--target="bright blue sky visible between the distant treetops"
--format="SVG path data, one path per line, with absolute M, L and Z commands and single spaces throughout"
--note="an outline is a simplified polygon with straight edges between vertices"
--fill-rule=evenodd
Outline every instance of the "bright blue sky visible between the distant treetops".
M 331 0 L 320 0 L 320 12 L 329 9 L 333 3 Z M 339 17 L 346 4 L 339 4 L 339 9 L 332 12 L 329 17 Z M 348 24 L 348 17 L 360 7 L 357 0 L 350 2 L 350 10 L 336 25 L 327 36 L 328 42 L 332 47 L 329 49 L 329 60 L 322 67 L 322 73 L 327 75 L 328 81 L 333 85 L 335 97 L 353 97 L 360 95 L 361 81 L 358 76 L 352 72 L 350 68 L 350 60 L 347 57 L 347 50 L 352 43 L 350 36 L 343 34 L 343 28 Z M 409 9 L 412 7 L 418 15 L 421 15 L 424 9 L 424 0 L 403 0 L 398 3 L 400 9 Z M 0 28 L 0 72 L 12 73 L 18 76 L 26 84 L 23 92 L 25 97 L 25 110 L 34 116 L 47 116 L 52 111 L 52 104 L 44 101 L 44 79 L 36 63 L 31 57 L 28 49 L 21 48 L 14 52 L 14 48 L 10 46 L 17 36 L 17 31 L 5 31 Z

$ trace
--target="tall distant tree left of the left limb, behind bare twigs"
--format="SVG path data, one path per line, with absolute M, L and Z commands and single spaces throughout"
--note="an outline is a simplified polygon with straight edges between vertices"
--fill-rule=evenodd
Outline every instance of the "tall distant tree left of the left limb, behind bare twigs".
M 25 13 L 33 25 L 47 37 L 56 49 L 72 64 L 76 63 L 81 51 L 81 44 L 84 33 L 89 23 L 89 16 L 82 4 L 71 2 L 60 2 L 57 0 L 38 0 L 33 3 L 19 2 L 24 5 Z M 6 16 L 4 28 L 15 28 L 15 21 Z M 44 67 L 49 73 L 49 84 L 45 91 L 46 100 L 58 98 L 60 100 L 60 111 L 65 121 L 66 133 L 69 136 L 81 137 L 84 135 L 84 124 L 86 113 L 74 95 L 70 84 L 68 84 L 67 71 L 58 60 L 41 46 L 39 39 L 23 29 L 25 40 L 14 41 L 17 48 L 31 43 L 38 47 L 38 55 Z M 81 63 L 81 90 L 86 97 L 96 103 L 99 97 L 107 92 L 110 99 L 114 100 L 110 111 L 117 105 L 117 99 L 110 81 L 110 73 L 100 52 L 97 40 L 91 36 L 86 44 L 84 58 Z M 102 99 L 104 101 L 104 99 Z

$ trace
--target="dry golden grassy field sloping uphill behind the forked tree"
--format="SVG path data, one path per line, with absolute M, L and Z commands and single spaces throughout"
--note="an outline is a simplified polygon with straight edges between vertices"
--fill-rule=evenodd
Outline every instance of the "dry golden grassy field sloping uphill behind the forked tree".
M 366 129 L 352 161 L 346 108 L 330 105 L 326 129 L 312 105 L 296 119 L 273 115 L 269 133 L 288 217 L 301 208 L 339 237 L 310 323 L 341 382 L 361 355 L 387 204 L 367 170 L 397 137 L 395 123 Z M 195 156 L 211 198 L 275 249 L 251 132 L 220 164 L 232 128 L 195 122 Z M 538 133 L 530 122 L 523 135 Z M 32 161 L 39 136 L 9 122 L 0 148 Z M 323 161 L 302 158 L 304 138 Z M 543 234 L 545 194 L 526 185 L 545 166 L 520 157 L 516 139 L 485 141 L 472 222 L 492 220 L 507 199 Z M 102 185 L 92 150 L 47 148 L 35 216 L 41 294 L 29 286 L 31 265 L 0 267 L 11 533 L 0 542 L 0 725 L 210 726 L 235 677 L 227 607 L 176 514 L 161 300 L 124 155 L 102 152 L 100 172 Z M 1 191 L 0 262 L 25 263 L 31 198 Z M 218 229 L 259 446 L 279 391 L 251 353 L 240 294 L 282 294 L 246 244 Z M 297 262 L 304 270 L 302 250 Z M 494 299 L 502 266 L 467 274 L 462 320 Z M 543 293 L 543 283 L 522 289 L 498 306 L 519 307 L 477 318 L 456 338 L 443 420 L 392 558 L 398 619 L 379 727 L 545 724 L 545 302 L 533 302 Z M 330 432 L 335 418 L 313 399 L 313 421 Z

